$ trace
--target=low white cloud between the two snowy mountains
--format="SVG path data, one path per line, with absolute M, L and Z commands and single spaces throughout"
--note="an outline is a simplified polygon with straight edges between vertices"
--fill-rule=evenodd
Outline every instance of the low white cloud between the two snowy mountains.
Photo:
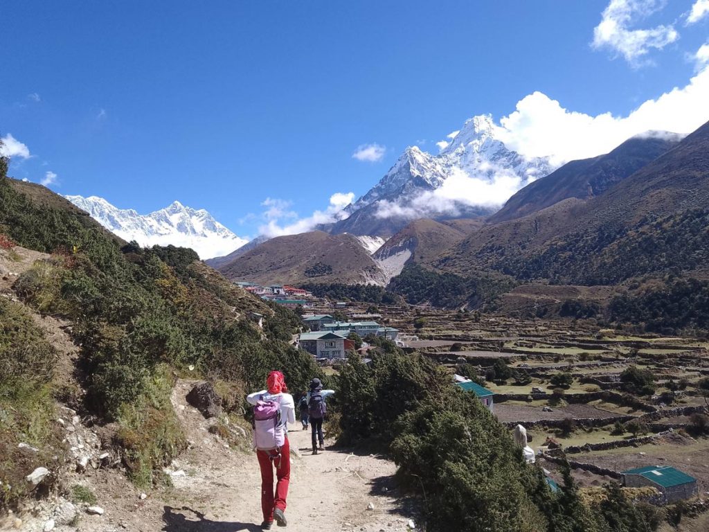
M 313 231 L 313 229 L 320 224 L 333 223 L 334 221 L 345 218 L 347 214 L 343 213 L 342 209 L 350 204 L 353 199 L 354 192 L 335 192 L 335 194 L 330 196 L 330 204 L 325 211 L 317 210 L 314 211 L 311 216 L 306 218 L 298 218 L 295 221 L 289 222 L 289 219 L 293 218 L 291 215 L 294 215 L 295 213 L 292 211 L 285 211 L 285 216 L 274 216 L 272 204 L 290 206 L 291 202 L 282 199 L 268 198 L 262 204 L 264 206 L 269 206 L 269 210 L 264 212 L 264 218 L 267 219 L 268 223 L 259 227 L 259 235 L 265 235 L 269 238 L 273 238 L 274 236 L 296 235 L 298 233 Z M 267 201 L 269 202 L 268 204 Z

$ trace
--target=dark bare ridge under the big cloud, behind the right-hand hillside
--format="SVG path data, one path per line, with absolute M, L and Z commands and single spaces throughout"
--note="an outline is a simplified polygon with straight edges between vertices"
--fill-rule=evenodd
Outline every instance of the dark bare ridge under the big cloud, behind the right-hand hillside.
M 496 223 L 540 211 L 567 198 L 600 196 L 670 148 L 680 135 L 652 132 L 626 140 L 605 155 L 571 161 L 512 196 L 488 221 Z

